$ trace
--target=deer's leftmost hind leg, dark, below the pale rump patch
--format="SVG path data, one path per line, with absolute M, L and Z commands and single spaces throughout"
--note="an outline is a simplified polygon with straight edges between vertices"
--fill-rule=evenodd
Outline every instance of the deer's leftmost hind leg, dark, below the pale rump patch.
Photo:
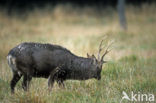
M 13 78 L 10 82 L 11 93 L 14 93 L 15 86 L 21 77 L 22 75 L 19 75 L 18 73 L 13 73 Z

